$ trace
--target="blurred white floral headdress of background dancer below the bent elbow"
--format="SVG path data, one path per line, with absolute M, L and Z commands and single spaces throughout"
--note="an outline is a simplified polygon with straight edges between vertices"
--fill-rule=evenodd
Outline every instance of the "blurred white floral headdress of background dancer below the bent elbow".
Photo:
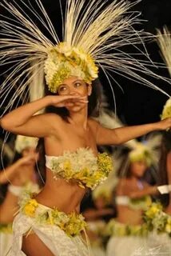
M 15 150 L 18 153 L 21 153 L 22 150 L 26 149 L 27 147 L 36 148 L 37 144 L 38 138 L 18 135 L 15 141 Z

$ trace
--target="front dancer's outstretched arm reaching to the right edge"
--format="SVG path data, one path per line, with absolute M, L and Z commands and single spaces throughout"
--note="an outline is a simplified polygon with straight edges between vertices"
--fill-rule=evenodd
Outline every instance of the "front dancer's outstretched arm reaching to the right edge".
M 148 134 L 153 130 L 169 129 L 171 127 L 171 118 L 141 126 L 125 126 L 116 129 L 105 128 L 94 120 L 91 120 L 90 123 L 93 126 L 94 134 L 96 134 L 97 145 L 117 145 Z

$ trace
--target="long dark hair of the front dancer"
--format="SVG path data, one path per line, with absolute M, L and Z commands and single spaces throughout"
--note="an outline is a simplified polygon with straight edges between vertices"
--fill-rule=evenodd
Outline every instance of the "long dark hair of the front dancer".
M 46 95 L 56 95 L 52 94 L 48 87 L 45 86 L 45 94 Z M 89 104 L 88 104 L 88 117 L 97 117 L 101 108 L 101 98 L 102 98 L 103 90 L 101 86 L 101 82 L 99 79 L 96 79 L 92 82 L 92 94 L 89 96 Z M 45 113 L 54 113 L 58 114 L 62 117 L 63 120 L 68 122 L 68 117 L 70 116 L 69 111 L 65 107 L 55 107 L 55 106 L 47 106 Z M 40 175 L 43 180 L 46 180 L 46 159 L 45 159 L 45 146 L 44 146 L 44 138 L 40 138 L 38 140 L 37 151 L 39 152 L 39 160 L 38 160 L 38 169 L 40 171 Z

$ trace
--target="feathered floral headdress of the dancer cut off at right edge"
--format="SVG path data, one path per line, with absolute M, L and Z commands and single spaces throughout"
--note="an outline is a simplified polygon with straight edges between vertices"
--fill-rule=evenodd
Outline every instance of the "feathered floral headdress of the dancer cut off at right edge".
M 171 77 L 171 32 L 169 32 L 167 27 L 164 27 L 163 32 L 161 32 L 161 30 L 157 30 L 157 34 L 158 46 L 160 47 L 162 57 L 168 67 Z M 171 118 L 171 98 L 165 102 L 165 106 L 161 114 L 161 120 L 164 118 Z

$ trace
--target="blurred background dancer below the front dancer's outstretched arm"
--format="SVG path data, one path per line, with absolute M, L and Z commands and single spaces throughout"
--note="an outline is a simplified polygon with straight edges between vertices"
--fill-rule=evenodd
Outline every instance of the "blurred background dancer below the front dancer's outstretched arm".
M 106 232 L 111 235 L 107 245 L 108 256 L 133 255 L 140 248 L 141 254 L 145 254 L 149 230 L 143 222 L 143 212 L 151 204 L 149 195 L 159 194 L 157 186 L 149 186 L 142 179 L 145 171 L 157 163 L 155 162 L 157 156 L 153 150 L 155 143 L 149 143 L 149 146 L 148 142 L 143 144 L 133 141 L 132 144 L 134 144 L 132 150 L 127 151 L 126 156 L 122 157 L 117 173 L 119 177 L 115 189 L 117 218 L 112 219 L 106 228 Z M 157 144 L 159 145 L 160 141 Z

